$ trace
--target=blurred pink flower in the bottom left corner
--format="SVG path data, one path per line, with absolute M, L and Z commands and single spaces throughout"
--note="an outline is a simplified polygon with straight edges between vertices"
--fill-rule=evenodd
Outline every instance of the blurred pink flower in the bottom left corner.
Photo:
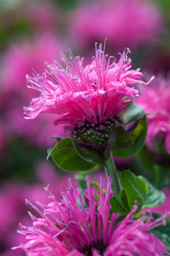
M 24 239 L 16 234 L 19 219 L 25 225 L 31 225 L 30 220 L 26 216 L 28 207 L 24 204 L 23 187 L 18 182 L 1 183 L 0 203 L 3 204 L 3 211 L 0 212 L 1 229 L 0 229 L 0 255 L 15 256 L 16 253 L 11 251 L 11 246 L 24 242 Z M 20 217 L 19 217 L 20 216 Z M 25 254 L 18 251 L 18 256 Z

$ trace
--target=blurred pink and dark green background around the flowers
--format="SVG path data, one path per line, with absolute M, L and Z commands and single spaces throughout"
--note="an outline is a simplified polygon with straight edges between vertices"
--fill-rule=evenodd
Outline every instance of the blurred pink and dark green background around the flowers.
M 54 127 L 52 114 L 25 120 L 23 106 L 28 106 L 39 92 L 27 88 L 25 75 L 44 72 L 44 62 L 60 62 L 60 51 L 70 47 L 74 56 L 95 55 L 95 42 L 106 40 L 105 52 L 119 59 L 130 48 L 132 68 L 168 78 L 170 76 L 170 1 L 169 0 L 0 0 L 0 255 L 24 255 L 12 246 L 22 241 L 17 234 L 19 222 L 31 224 L 25 198 L 48 203 L 44 186 L 53 194 L 74 186 L 74 174 L 65 173 L 47 162 L 47 149 L 55 145 L 53 135 L 66 136 L 62 126 Z M 33 69 L 33 70 L 32 70 Z M 145 78 L 144 78 L 145 79 Z M 169 108 L 170 112 L 170 108 Z M 119 161 L 119 170 L 131 168 L 146 172 L 148 163 L 139 157 Z M 170 194 L 169 159 L 157 187 Z M 57 170 L 57 171 L 56 171 Z M 149 171 L 148 171 L 149 170 Z M 103 171 L 100 170 L 102 173 Z M 104 175 L 104 173 L 103 173 Z M 95 178 L 96 177 L 96 178 Z M 94 174 L 97 180 L 98 173 Z M 166 181 L 166 182 L 165 182 Z M 167 209 L 167 203 L 163 210 Z M 169 204 L 170 205 L 170 204 Z M 162 211 L 163 211 L 162 210 Z

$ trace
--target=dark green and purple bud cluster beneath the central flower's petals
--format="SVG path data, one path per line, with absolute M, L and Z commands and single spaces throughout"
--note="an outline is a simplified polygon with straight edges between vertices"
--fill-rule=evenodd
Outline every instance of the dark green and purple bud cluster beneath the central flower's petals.
M 105 148 L 110 138 L 113 128 L 117 124 L 123 124 L 121 114 L 117 114 L 112 119 L 107 119 L 102 124 L 90 123 L 88 120 L 79 122 L 77 127 L 71 132 L 71 136 L 76 143 L 94 145 L 97 148 Z

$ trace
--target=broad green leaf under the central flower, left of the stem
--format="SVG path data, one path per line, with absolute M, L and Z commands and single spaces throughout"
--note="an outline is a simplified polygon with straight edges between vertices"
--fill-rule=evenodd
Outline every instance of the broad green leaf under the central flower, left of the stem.
M 66 171 L 86 171 L 96 164 L 105 166 L 99 151 L 79 147 L 70 137 L 60 140 L 48 150 L 55 164 Z

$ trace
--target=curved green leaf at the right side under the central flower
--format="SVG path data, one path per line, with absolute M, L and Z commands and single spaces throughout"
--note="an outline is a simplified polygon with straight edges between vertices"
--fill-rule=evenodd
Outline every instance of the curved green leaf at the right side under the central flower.
M 144 145 L 147 133 L 147 119 L 143 116 L 136 129 L 129 135 L 132 138 L 132 145 L 126 149 L 112 147 L 112 153 L 115 157 L 129 157 L 136 154 Z

